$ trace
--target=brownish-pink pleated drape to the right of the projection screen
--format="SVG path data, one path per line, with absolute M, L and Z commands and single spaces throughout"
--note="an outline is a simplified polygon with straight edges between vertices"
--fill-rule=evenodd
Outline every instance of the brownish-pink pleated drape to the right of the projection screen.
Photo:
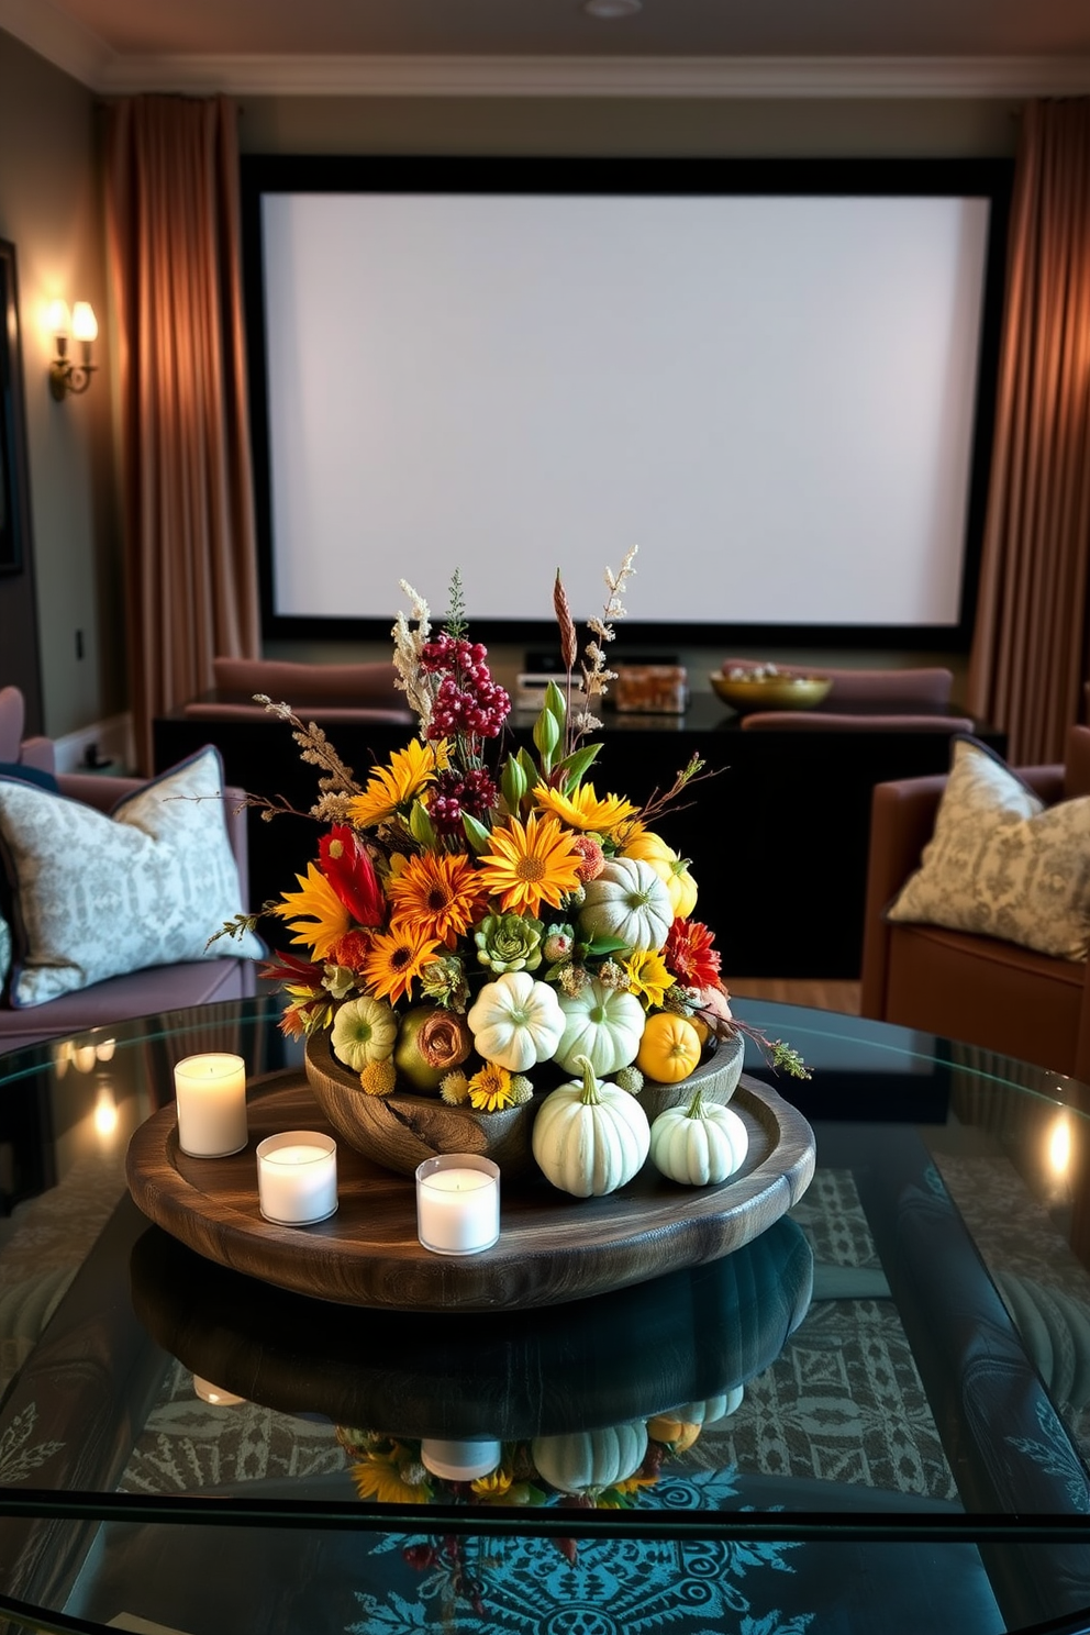
M 1064 759 L 1088 674 L 1090 101 L 1023 114 L 1007 262 L 972 714 Z

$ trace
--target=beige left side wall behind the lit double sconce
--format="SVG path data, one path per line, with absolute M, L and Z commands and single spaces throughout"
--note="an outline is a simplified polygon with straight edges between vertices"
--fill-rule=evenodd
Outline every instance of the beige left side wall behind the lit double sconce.
M 90 299 L 106 324 L 95 98 L 0 33 L 0 237 L 15 244 L 44 729 L 72 732 L 124 705 L 109 371 L 54 402 L 44 316 Z M 100 347 L 105 353 L 105 345 Z M 83 659 L 77 657 L 83 631 Z M 0 683 L 3 683 L 0 654 Z

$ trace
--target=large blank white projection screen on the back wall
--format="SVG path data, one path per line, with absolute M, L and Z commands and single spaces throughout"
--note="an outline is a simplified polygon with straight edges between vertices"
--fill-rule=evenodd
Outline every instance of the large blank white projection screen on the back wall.
M 690 641 L 961 628 L 987 193 L 257 209 L 275 629 L 386 629 L 456 566 L 474 623 L 547 616 L 556 569 L 582 620 L 632 544 L 629 613 Z

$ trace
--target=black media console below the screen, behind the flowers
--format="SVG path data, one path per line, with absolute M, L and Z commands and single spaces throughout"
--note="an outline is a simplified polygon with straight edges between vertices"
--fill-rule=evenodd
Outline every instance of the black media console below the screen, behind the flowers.
M 306 711 L 304 711 L 306 713 Z M 511 716 L 531 744 L 533 714 Z M 404 747 L 409 729 L 389 723 L 328 728 L 360 782 Z M 1003 734 L 979 736 L 1000 754 Z M 935 731 L 742 732 L 739 716 L 709 695 L 683 716 L 608 713 L 592 773 L 598 793 L 647 801 L 668 790 L 699 755 L 706 777 L 655 829 L 693 860 L 695 917 L 714 932 L 722 970 L 734 976 L 843 978 L 860 974 L 871 790 L 889 778 L 945 772 L 949 739 Z M 227 780 L 255 795 L 281 795 L 306 813 L 315 770 L 299 760 L 289 729 L 273 719 L 201 721 L 173 711 L 155 721 L 155 767 L 163 770 L 217 744 Z M 317 855 L 306 818 L 263 822 L 250 814 L 250 906 L 294 886 Z

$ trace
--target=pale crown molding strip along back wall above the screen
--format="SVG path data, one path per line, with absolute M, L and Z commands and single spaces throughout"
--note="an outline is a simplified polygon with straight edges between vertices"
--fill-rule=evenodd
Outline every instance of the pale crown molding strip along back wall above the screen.
M 100 92 L 239 96 L 1074 96 L 1090 57 L 113 57 Z

